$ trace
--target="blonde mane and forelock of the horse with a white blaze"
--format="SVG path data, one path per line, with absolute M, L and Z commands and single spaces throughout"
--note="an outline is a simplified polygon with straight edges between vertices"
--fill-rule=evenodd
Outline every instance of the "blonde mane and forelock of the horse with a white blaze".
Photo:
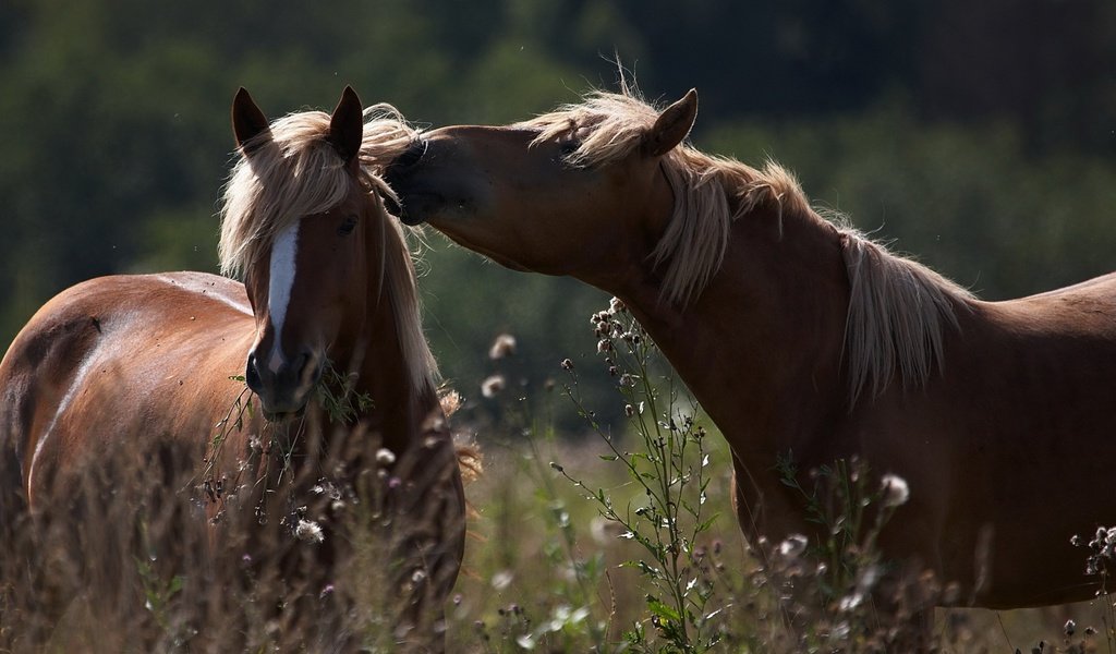
M 252 144 L 251 158 L 240 155 L 221 202 L 221 272 L 241 277 L 260 261 L 277 233 L 304 215 L 339 204 L 359 184 L 365 192 L 397 200 L 378 176 L 403 154 L 416 132 L 389 105 L 365 109 L 359 175 L 354 179 L 328 142 L 329 114 L 301 112 L 271 123 L 270 134 Z M 369 198 L 371 202 L 378 200 Z M 377 211 L 383 212 L 382 208 Z M 414 265 L 403 227 L 384 217 L 384 279 L 396 330 L 414 388 L 433 387 L 437 366 L 422 333 Z

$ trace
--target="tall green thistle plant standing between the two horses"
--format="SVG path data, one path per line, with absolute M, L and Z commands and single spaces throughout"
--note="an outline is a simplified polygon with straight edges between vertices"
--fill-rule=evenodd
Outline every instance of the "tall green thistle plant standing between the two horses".
M 579 413 L 607 443 L 607 462 L 623 467 L 636 498 L 620 500 L 604 489 L 590 489 L 560 463 L 551 463 L 596 508 L 606 521 L 618 526 L 619 538 L 639 546 L 643 556 L 624 567 L 636 570 L 645 583 L 646 617 L 625 633 L 627 645 L 643 652 L 705 652 L 722 638 L 721 613 L 710 610 L 714 585 L 705 574 L 704 550 L 699 538 L 715 516 L 705 514 L 708 467 L 705 429 L 698 421 L 696 402 L 685 400 L 670 373 L 660 373 L 657 349 L 618 299 L 594 314 L 591 324 L 597 353 L 625 401 L 635 448 L 614 437 L 596 420 L 580 396 L 577 371 L 562 362 L 570 382 L 565 391 Z M 658 641 L 662 647 L 656 647 Z

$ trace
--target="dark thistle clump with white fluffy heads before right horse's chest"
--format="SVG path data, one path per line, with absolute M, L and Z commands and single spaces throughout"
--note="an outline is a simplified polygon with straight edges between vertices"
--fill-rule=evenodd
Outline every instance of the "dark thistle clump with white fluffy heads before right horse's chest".
M 775 470 L 817 526 L 809 537 L 791 535 L 764 552 L 764 574 L 780 585 L 781 610 L 799 646 L 933 648 L 920 614 L 940 600 L 952 604 L 958 586 L 943 589 L 930 573 L 910 576 L 878 547 L 884 527 L 910 499 L 906 481 L 877 477 L 855 456 L 810 470 L 808 481 L 791 452 Z

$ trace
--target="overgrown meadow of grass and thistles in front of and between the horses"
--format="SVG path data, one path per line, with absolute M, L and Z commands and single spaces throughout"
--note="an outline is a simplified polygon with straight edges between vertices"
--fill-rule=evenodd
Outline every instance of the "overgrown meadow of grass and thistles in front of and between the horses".
M 597 355 L 577 367 L 569 359 L 556 365 L 545 387 L 529 393 L 508 383 L 513 377 L 499 371 L 513 364 L 514 346 L 504 338 L 492 350 L 497 372 L 460 388 L 465 401 L 453 420 L 463 440 L 479 443 L 483 472 L 466 485 L 469 539 L 448 603 L 449 650 L 905 651 L 902 616 L 873 605 L 870 579 L 886 565 L 865 536 L 876 527 L 835 529 L 841 538 L 828 550 L 792 541 L 749 548 L 730 503 L 723 439 L 623 310 L 614 307 L 594 323 L 602 337 Z M 588 365 L 608 368 L 614 396 L 580 395 L 578 368 Z M 577 433 L 555 429 L 559 403 L 581 415 Z M 609 403 L 626 423 L 597 423 Z M 169 511 L 152 499 L 165 487 L 152 484 L 146 470 L 135 474 L 113 478 L 107 496 L 98 487 L 104 503 L 85 508 L 76 540 L 65 530 L 55 540 L 8 531 L 0 551 L 0 652 L 319 652 L 334 651 L 328 636 L 338 631 L 353 634 L 348 646 L 363 651 L 411 651 L 389 636 L 395 596 L 385 588 L 378 550 L 363 547 L 376 542 L 368 529 L 348 532 L 356 551 L 373 554 L 348 561 L 336 593 L 331 585 L 329 594 L 292 589 L 269 568 L 269 557 L 289 554 L 281 535 L 233 539 L 223 548 L 234 556 L 202 560 L 204 533 L 176 527 L 191 509 Z M 828 488 L 843 502 L 903 510 L 855 463 L 835 462 L 821 477 L 837 482 Z M 131 487 L 156 493 L 121 491 Z M 830 518 L 848 523 L 848 516 Z M 1083 571 L 1087 554 L 1083 549 Z M 819 567 L 817 556 L 829 565 Z M 100 585 L 83 590 L 61 583 L 95 558 L 110 561 Z M 104 583 L 109 578 L 115 583 Z M 799 589 L 793 599 L 788 584 Z M 277 593 L 299 609 L 277 618 L 270 610 Z M 1114 652 L 1113 615 L 1110 596 L 1004 613 L 939 609 L 932 639 L 922 646 Z

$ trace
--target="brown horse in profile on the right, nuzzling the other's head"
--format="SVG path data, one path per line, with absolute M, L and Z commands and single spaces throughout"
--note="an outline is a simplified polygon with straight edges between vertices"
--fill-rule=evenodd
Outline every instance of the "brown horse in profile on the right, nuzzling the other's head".
M 731 445 L 750 538 L 817 536 L 777 460 L 905 479 L 883 554 L 960 604 L 1091 598 L 1070 545 L 1116 522 L 1116 276 L 974 298 L 811 210 L 796 180 L 683 143 L 691 90 L 429 132 L 388 169 L 404 220 L 624 300 Z

